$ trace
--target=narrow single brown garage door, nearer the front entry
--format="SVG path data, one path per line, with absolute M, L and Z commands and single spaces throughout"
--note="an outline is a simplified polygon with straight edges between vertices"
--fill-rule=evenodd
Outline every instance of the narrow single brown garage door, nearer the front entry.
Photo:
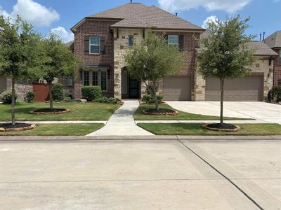
M 163 79 L 163 99 L 166 101 L 190 101 L 191 79 L 187 76 L 173 76 Z

